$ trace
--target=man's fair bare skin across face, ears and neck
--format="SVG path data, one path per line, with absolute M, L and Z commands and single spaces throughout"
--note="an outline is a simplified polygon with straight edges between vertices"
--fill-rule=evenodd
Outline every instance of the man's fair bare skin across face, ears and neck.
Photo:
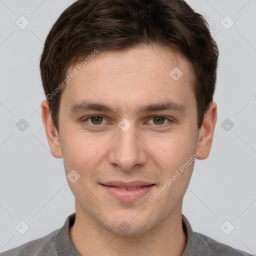
M 175 66 L 183 73 L 176 81 L 169 75 Z M 182 254 L 187 241 L 181 225 L 182 199 L 194 161 L 153 202 L 149 196 L 197 151 L 198 159 L 209 154 L 216 104 L 211 103 L 198 129 L 191 70 L 181 54 L 167 47 L 140 45 L 99 52 L 62 90 L 58 132 L 47 100 L 42 101 L 42 121 L 52 155 L 63 157 L 66 175 L 72 169 L 80 174 L 74 183 L 67 181 L 76 211 L 69 234 L 81 255 Z M 84 100 L 107 104 L 116 112 L 70 111 Z M 139 106 L 169 100 L 183 105 L 183 111 L 136 113 Z M 102 124 L 85 120 L 90 115 L 102 116 L 97 119 Z M 160 119 L 164 120 L 161 124 L 154 116 L 169 119 Z M 127 131 L 118 127 L 123 118 L 131 124 Z M 154 186 L 135 200 L 122 201 L 100 185 L 112 180 L 142 180 Z M 123 221 L 130 228 L 125 233 L 118 228 Z

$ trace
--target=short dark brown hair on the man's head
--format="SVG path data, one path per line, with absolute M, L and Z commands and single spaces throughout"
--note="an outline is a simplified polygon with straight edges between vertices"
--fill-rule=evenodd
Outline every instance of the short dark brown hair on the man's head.
M 122 50 L 141 43 L 172 47 L 192 64 L 201 127 L 213 100 L 218 58 L 202 15 L 183 0 L 77 0 L 50 29 L 40 59 L 42 85 L 57 130 L 61 91 L 52 92 L 64 81 L 67 68 L 95 49 Z

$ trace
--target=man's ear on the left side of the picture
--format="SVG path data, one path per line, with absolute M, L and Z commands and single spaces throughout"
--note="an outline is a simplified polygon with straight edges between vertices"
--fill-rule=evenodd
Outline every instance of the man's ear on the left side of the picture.
M 42 122 L 45 128 L 46 136 L 50 146 L 50 152 L 57 158 L 62 157 L 60 142 L 56 127 L 50 115 L 48 100 L 45 99 L 41 102 Z

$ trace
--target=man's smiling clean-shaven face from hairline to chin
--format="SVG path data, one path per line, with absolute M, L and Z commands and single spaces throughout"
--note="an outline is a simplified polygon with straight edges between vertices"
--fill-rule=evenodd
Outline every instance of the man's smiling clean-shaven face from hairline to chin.
M 169 48 L 143 45 L 99 52 L 67 73 L 73 68 L 52 152 L 63 156 L 66 175 L 73 171 L 76 214 L 127 235 L 180 214 L 200 155 L 189 63 Z

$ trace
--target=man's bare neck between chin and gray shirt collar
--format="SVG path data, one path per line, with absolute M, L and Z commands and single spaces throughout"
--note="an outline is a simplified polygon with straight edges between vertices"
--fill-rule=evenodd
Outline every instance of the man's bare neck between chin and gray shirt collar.
M 181 208 L 182 202 L 173 214 L 143 235 L 120 236 L 102 228 L 93 218 L 81 211 L 76 202 L 75 221 L 69 228 L 70 239 L 82 256 L 181 256 L 187 240 L 182 229 Z

